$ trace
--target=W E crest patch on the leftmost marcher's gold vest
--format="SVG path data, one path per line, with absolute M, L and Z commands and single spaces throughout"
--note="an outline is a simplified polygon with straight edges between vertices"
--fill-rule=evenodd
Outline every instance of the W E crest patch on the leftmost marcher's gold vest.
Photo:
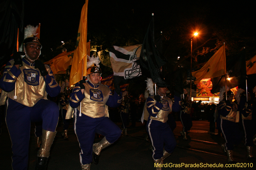
M 40 74 L 39 71 L 33 69 L 23 69 L 24 81 L 28 85 L 39 85 Z

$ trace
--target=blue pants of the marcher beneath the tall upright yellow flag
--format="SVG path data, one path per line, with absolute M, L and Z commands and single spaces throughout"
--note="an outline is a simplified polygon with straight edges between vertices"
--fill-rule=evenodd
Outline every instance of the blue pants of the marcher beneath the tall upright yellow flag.
M 108 117 L 92 118 L 82 114 L 79 111 L 74 114 L 75 133 L 81 148 L 80 163 L 81 165 L 92 162 L 92 145 L 95 133 L 106 137 L 109 143 L 114 143 L 121 136 L 121 129 L 112 122 Z

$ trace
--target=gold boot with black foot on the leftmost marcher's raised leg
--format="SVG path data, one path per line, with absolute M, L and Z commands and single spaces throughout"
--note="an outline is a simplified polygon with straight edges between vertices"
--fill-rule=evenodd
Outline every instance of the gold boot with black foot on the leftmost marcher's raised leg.
M 51 132 L 43 129 L 42 144 L 37 153 L 36 170 L 45 170 L 48 157 L 50 156 L 50 149 L 57 131 Z

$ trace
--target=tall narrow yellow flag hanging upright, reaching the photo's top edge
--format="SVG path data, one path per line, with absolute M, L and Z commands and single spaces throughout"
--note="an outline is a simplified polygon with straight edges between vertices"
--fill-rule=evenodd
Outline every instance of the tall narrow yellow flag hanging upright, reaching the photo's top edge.
M 70 71 L 69 85 L 76 84 L 82 79 L 82 76 L 86 76 L 87 11 L 88 11 L 88 0 L 85 1 L 85 4 L 81 12 L 80 24 L 79 24 L 78 34 L 76 39 L 76 47 L 75 47 L 72 67 Z

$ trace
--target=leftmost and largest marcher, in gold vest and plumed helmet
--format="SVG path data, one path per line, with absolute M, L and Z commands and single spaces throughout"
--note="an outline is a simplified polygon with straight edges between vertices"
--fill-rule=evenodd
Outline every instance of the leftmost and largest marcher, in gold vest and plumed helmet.
M 8 92 L 6 124 L 12 140 L 12 168 L 28 169 L 30 124 L 43 121 L 36 169 L 45 169 L 59 118 L 57 104 L 46 96 L 57 96 L 60 86 L 51 68 L 37 60 L 42 48 L 39 39 L 29 37 L 22 45 L 23 51 L 14 53 L 0 81 L 1 88 Z M 21 55 L 25 56 L 21 59 Z

